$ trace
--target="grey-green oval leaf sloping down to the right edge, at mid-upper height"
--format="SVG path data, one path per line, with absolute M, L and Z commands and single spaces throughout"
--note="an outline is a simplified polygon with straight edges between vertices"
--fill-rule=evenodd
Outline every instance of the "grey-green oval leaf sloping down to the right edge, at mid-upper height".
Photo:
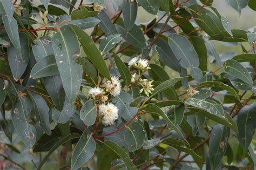
M 229 59 L 223 64 L 224 70 L 230 73 L 233 77 L 238 78 L 250 86 L 253 86 L 253 80 L 250 73 L 235 60 Z

